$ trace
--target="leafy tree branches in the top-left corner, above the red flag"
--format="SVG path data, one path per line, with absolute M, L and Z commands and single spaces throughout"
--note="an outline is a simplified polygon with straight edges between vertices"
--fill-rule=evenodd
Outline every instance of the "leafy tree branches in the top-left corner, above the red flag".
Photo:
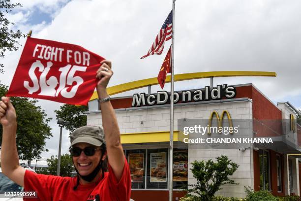
M 4 57 L 4 53 L 8 51 L 18 50 L 20 45 L 17 39 L 25 37 L 19 30 L 14 32 L 11 26 L 14 23 L 7 20 L 4 13 L 9 13 L 15 7 L 21 7 L 20 3 L 10 3 L 9 0 L 0 0 L 0 58 Z M 3 73 L 3 64 L 0 64 L 0 72 Z

